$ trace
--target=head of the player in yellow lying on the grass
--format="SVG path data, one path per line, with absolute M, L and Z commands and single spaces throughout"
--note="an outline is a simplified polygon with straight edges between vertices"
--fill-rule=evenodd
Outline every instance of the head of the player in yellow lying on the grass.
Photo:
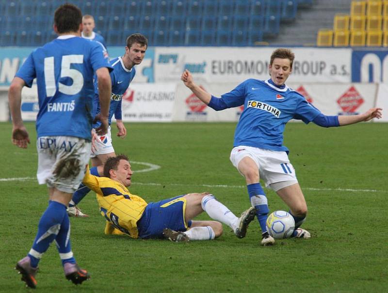
M 133 172 L 130 169 L 128 156 L 118 154 L 114 157 L 109 157 L 104 164 L 104 176 L 111 178 L 114 181 L 120 182 L 124 186 L 131 184 L 130 178 Z

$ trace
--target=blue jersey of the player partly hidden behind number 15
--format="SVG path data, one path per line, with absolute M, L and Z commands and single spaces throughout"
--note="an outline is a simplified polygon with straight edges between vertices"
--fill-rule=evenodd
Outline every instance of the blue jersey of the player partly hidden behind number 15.
M 111 125 L 112 117 L 121 120 L 121 103 L 123 94 L 127 91 L 130 82 L 135 77 L 136 70 L 132 67 L 130 70 L 125 68 L 121 57 L 114 58 L 110 61 L 113 71 L 111 72 L 112 80 L 112 93 L 111 93 L 111 105 L 109 108 L 108 122 Z M 95 97 L 94 97 L 94 109 L 96 114 L 100 113 L 100 103 L 98 98 L 97 83 L 95 83 Z M 99 122 L 93 124 L 94 128 L 100 125 Z

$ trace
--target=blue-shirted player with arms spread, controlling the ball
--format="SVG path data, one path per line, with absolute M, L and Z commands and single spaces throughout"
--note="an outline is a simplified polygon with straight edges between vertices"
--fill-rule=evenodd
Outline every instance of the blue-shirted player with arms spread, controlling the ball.
M 294 54 L 289 49 L 276 49 L 269 64 L 268 80 L 247 79 L 221 98 L 206 93 L 193 81 L 188 70 L 181 76 L 184 84 L 210 108 L 223 110 L 244 105 L 237 124 L 230 160 L 244 176 L 249 199 L 256 208 L 262 231 L 261 245 L 273 245 L 265 221 L 269 213 L 268 201 L 259 183 L 261 178 L 289 206 L 295 220 L 292 237 L 310 238 L 300 228 L 306 219 L 307 204 L 288 158 L 289 150 L 283 145 L 283 131 L 291 119 L 313 122 L 323 127 L 343 126 L 372 118 L 381 118 L 381 108 L 371 108 L 352 116 L 326 116 L 309 104 L 299 93 L 286 84 L 292 72 Z

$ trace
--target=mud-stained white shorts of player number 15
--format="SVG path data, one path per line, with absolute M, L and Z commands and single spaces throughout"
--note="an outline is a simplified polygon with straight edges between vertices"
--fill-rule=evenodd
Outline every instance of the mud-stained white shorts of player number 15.
M 73 193 L 80 186 L 89 162 L 90 141 L 69 136 L 46 136 L 36 140 L 39 184 Z

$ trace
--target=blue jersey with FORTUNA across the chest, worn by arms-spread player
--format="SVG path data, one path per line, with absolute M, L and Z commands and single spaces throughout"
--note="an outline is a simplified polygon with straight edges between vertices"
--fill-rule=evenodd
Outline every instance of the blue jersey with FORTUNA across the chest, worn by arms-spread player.
M 286 85 L 276 86 L 269 80 L 247 79 L 221 96 L 226 108 L 244 105 L 237 124 L 234 146 L 246 145 L 274 151 L 286 151 L 283 131 L 291 119 L 305 123 L 321 112 L 299 93 Z

